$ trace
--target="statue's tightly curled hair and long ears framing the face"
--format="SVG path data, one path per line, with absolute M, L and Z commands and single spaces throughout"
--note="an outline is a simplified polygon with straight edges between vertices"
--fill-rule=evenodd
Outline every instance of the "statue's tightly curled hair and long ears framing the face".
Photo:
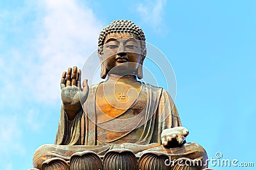
M 138 41 L 138 43 L 140 44 L 140 52 L 138 52 L 140 54 L 140 59 L 138 61 L 140 66 L 138 66 L 138 70 L 136 70 L 136 76 L 139 79 L 143 78 L 142 64 L 147 53 L 145 35 L 142 29 L 130 20 L 115 20 L 111 22 L 111 24 L 109 24 L 107 27 L 102 29 L 102 31 L 100 32 L 98 41 L 98 54 L 101 61 L 100 77 L 106 78 L 106 75 L 109 71 L 106 68 L 106 64 L 104 64 L 106 63 L 106 60 L 102 56 L 104 56 L 104 46 L 106 45 L 106 43 L 108 43 L 108 38 L 112 37 L 117 40 L 132 38 Z

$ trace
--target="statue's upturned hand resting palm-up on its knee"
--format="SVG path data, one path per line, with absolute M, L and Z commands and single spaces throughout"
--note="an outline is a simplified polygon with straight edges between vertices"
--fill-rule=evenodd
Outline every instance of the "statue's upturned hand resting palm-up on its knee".
M 182 145 L 188 136 L 189 131 L 185 127 L 173 127 L 164 129 L 161 133 L 161 141 L 163 146 L 168 146 L 168 143 L 174 142 Z

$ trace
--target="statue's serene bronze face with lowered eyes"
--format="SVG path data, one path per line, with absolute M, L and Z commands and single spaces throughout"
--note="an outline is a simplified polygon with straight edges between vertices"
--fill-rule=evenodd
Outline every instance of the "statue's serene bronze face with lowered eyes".
M 113 32 L 106 36 L 101 55 L 109 74 L 136 75 L 141 62 L 141 41 L 129 32 Z

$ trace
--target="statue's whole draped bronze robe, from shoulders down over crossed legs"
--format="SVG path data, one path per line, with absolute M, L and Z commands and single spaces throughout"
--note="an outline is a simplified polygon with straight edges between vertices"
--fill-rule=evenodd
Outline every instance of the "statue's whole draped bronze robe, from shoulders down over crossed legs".
M 163 88 L 141 83 L 138 100 L 147 99 L 143 110 L 138 115 L 129 113 L 132 107 L 136 107 L 135 104 L 120 117 L 109 118 L 109 121 L 100 125 L 97 124 L 95 102 L 98 87 L 99 84 L 90 87 L 83 110 L 77 113 L 74 120 L 68 120 L 67 113 L 61 107 L 55 145 L 43 145 L 36 150 L 33 157 L 34 167 L 40 167 L 44 160 L 52 157 L 68 160 L 73 153 L 83 150 L 92 150 L 98 155 L 104 155 L 112 148 L 127 148 L 137 156 L 150 150 L 167 153 L 172 155 L 173 159 L 207 159 L 204 148 L 196 143 L 185 143 L 178 148 L 165 148 L 161 145 L 161 132 L 164 129 L 181 126 L 172 97 Z M 128 118 L 124 118 L 125 114 L 129 115 Z M 99 140 L 100 136 L 106 136 L 109 132 L 116 133 L 117 137 Z

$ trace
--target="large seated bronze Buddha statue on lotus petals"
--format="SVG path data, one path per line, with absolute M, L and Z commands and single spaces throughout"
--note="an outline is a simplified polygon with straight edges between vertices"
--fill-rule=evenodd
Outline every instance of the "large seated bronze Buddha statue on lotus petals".
M 147 55 L 143 31 L 131 21 L 112 22 L 100 32 L 98 55 L 105 81 L 81 85 L 77 67 L 62 74 L 56 141 L 36 150 L 35 169 L 206 168 L 207 153 L 186 143 L 189 131 L 170 94 L 139 81 Z

